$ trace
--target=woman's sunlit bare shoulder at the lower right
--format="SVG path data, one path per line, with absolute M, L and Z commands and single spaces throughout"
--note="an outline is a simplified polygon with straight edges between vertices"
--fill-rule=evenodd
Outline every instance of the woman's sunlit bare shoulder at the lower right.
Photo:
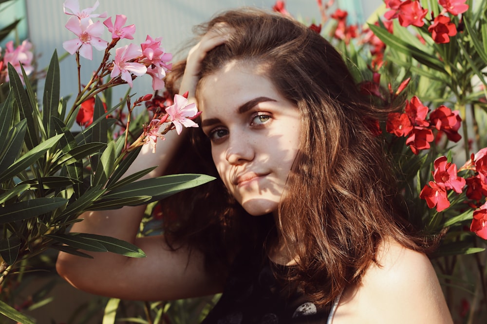
M 333 323 L 358 319 L 360 323 L 452 323 L 428 257 L 392 240 L 382 243 L 377 264 L 367 270 L 362 285 L 344 292 Z

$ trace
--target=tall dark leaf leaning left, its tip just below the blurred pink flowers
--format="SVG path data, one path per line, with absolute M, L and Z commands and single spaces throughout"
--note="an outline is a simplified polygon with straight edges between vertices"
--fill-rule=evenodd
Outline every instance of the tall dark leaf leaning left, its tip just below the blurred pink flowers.
M 28 149 L 32 149 L 38 144 L 36 127 L 34 124 L 34 107 L 32 107 L 31 102 L 27 98 L 19 74 L 10 63 L 8 64 L 8 75 L 10 77 L 10 89 L 13 92 L 14 99 L 19 107 L 20 119 L 27 119 L 25 145 L 27 145 Z

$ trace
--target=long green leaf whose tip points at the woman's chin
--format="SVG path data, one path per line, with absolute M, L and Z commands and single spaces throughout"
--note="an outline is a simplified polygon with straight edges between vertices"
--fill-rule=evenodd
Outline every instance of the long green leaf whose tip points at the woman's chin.
M 169 197 L 179 191 L 194 188 L 214 180 L 214 177 L 203 174 L 173 174 L 157 178 L 132 182 L 103 196 L 105 199 L 120 199 L 137 196 L 152 196 L 147 202 L 153 202 Z

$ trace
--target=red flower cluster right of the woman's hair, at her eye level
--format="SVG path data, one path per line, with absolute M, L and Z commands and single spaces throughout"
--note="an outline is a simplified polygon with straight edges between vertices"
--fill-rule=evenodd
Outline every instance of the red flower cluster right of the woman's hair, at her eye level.
M 437 139 L 445 134 L 449 140 L 458 142 L 461 138 L 458 129 L 462 122 L 459 112 L 441 105 L 433 110 L 427 119 L 429 111 L 430 109 L 414 96 L 410 101 L 406 101 L 404 113 L 389 114 L 386 130 L 395 136 L 407 137 L 406 145 L 410 146 L 414 154 L 431 147 L 430 143 L 435 139 L 434 129 L 438 131 Z

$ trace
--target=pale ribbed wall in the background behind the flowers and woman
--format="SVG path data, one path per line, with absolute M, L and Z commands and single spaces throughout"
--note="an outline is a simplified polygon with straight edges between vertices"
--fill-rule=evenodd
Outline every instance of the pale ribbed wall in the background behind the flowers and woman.
M 275 0 L 99 0 L 100 6 L 96 13 L 104 11 L 109 16 L 124 14 L 128 17 L 128 24 L 135 24 L 134 42 L 141 43 L 146 35 L 163 37 L 163 45 L 168 52 L 174 53 L 192 36 L 193 25 L 206 21 L 216 12 L 239 6 L 257 6 L 272 8 Z M 326 0 L 323 0 L 325 2 Z M 364 5 L 360 5 L 360 1 Z M 75 38 L 64 24 L 69 16 L 63 13 L 64 0 L 26 0 L 29 24 L 29 39 L 35 45 L 36 52 L 41 53 L 39 68 L 47 67 L 54 49 L 60 56 L 66 51 L 62 42 Z M 95 0 L 79 0 L 80 7 L 90 7 Z M 319 21 L 316 0 L 287 0 L 286 8 L 294 16 L 311 22 Z M 350 11 L 363 12 L 367 17 L 382 1 L 381 0 L 337 0 L 340 7 Z M 357 5 L 358 4 L 358 5 Z M 360 8 L 362 7 L 362 8 Z M 108 32 L 106 38 L 108 39 Z M 121 42 L 122 43 L 122 42 Z M 126 44 L 126 43 L 124 43 Z M 96 55 L 95 55 L 96 54 Z M 97 67 L 101 59 L 101 52 L 94 50 L 94 60 L 81 58 L 82 76 L 85 82 L 89 74 Z M 76 91 L 76 64 L 74 56 L 69 56 L 61 62 L 61 94 L 74 94 Z M 127 87 L 120 86 L 117 96 L 122 96 Z M 138 95 L 151 93 L 149 76 L 138 78 L 134 82 L 133 91 Z

